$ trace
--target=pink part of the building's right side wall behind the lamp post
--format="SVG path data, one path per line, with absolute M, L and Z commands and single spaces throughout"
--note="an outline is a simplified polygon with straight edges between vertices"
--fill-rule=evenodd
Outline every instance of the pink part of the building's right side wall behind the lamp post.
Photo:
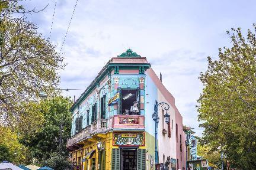
M 159 127 L 158 127 L 158 148 L 159 148 L 159 163 L 164 163 L 167 160 L 167 156 L 171 156 L 172 159 L 176 160 L 177 169 L 185 168 L 185 133 L 183 132 L 183 117 L 178 112 L 175 106 L 175 99 L 171 93 L 164 87 L 162 82 L 158 79 L 152 68 L 146 71 L 146 75 L 151 77 L 151 80 L 158 89 L 158 103 L 165 102 L 168 103 L 170 108 L 168 114 L 170 115 L 171 127 L 171 138 L 168 138 L 168 133 L 163 135 L 162 129 L 163 125 L 166 130 L 168 130 L 167 124 L 162 123 L 164 121 L 162 117 L 162 109 L 159 108 Z M 177 124 L 177 135 L 176 135 L 176 124 Z M 181 141 L 180 141 L 181 135 Z M 182 146 L 180 145 L 180 142 Z M 182 148 L 182 151 L 180 151 Z M 165 160 L 164 156 L 165 155 Z M 171 166 L 171 165 L 170 165 Z M 169 167 L 170 167 L 169 166 Z M 179 166 L 179 167 L 178 167 Z

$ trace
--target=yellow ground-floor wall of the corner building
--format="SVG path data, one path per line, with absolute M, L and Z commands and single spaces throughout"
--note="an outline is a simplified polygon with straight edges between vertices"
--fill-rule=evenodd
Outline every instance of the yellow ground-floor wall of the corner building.
M 91 139 L 84 140 L 79 142 L 79 144 L 83 144 L 84 146 L 72 153 L 72 161 L 76 162 L 77 165 L 81 167 L 82 170 L 93 170 L 92 164 L 95 160 L 95 170 L 98 169 L 99 162 L 99 152 L 97 149 L 97 143 L 101 141 L 104 143 L 105 149 L 105 160 L 102 162 L 101 169 L 103 167 L 104 170 L 111 169 L 111 158 L 112 158 L 112 149 L 119 148 L 119 146 L 113 146 L 113 133 L 109 132 L 107 134 L 97 134 L 92 136 Z M 139 149 L 146 149 L 146 170 L 153 170 L 155 164 L 155 138 L 149 133 L 145 132 L 145 146 L 139 146 Z M 90 159 L 85 159 L 87 153 L 94 151 L 94 154 Z M 102 152 L 101 152 L 102 155 Z M 83 160 L 84 159 L 84 160 Z M 102 158 L 101 158 L 102 159 Z M 78 167 L 74 167 L 75 170 L 79 169 Z M 79 169 L 79 170 L 81 170 Z M 100 170 L 101 170 L 100 169 Z

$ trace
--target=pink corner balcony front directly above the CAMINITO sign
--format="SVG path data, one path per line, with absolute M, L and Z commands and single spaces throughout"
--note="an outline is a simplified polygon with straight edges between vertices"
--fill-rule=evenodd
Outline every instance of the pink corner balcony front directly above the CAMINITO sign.
M 142 115 L 114 115 L 113 130 L 145 130 Z

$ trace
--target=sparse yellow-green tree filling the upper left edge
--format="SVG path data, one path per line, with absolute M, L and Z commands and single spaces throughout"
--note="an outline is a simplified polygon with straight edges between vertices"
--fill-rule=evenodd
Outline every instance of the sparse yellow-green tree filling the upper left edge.
M 13 17 L 26 12 L 18 2 L 0 2 L 0 120 L 5 125 L 19 120 L 23 103 L 38 100 L 40 91 L 55 93 L 57 71 L 63 68 L 63 58 L 36 25 L 24 15 Z

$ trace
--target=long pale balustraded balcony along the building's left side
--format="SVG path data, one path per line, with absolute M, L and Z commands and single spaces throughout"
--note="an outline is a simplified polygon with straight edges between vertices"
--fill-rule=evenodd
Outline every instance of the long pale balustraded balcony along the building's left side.
M 111 125 L 112 119 L 97 119 L 94 123 L 72 136 L 72 138 L 69 138 L 66 146 L 69 148 L 70 146 L 78 144 L 83 140 L 87 140 L 89 136 L 95 135 L 96 133 L 105 133 L 111 129 Z

